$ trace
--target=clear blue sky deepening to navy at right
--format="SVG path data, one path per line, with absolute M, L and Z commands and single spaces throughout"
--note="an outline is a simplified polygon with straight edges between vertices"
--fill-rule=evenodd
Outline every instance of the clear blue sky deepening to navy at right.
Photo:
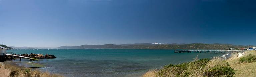
M 255 0 L 0 0 L 8 46 L 255 45 Z

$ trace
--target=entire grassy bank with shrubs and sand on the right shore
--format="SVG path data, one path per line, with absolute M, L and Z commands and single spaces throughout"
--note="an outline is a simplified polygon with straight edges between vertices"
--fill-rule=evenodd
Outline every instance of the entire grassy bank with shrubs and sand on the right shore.
M 256 51 L 232 54 L 231 58 L 211 60 L 195 58 L 192 62 L 169 64 L 152 69 L 143 77 L 255 77 Z

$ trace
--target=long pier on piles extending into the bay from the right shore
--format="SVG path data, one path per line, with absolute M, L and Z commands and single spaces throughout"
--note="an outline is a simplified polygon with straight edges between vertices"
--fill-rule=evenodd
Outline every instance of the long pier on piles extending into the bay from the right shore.
M 174 53 L 238 53 L 243 50 L 177 50 Z

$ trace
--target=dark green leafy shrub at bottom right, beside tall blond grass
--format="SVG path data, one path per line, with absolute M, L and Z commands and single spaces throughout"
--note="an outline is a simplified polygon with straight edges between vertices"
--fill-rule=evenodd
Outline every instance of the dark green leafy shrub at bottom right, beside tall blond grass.
M 234 74 L 234 68 L 231 68 L 228 63 L 226 65 L 216 65 L 204 73 L 207 77 L 231 77 Z

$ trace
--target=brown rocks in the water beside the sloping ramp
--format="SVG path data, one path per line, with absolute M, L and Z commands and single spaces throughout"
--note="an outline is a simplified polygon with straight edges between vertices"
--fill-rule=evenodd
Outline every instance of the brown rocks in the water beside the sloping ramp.
M 21 56 L 24 56 L 24 57 L 30 57 L 30 58 L 36 58 L 36 59 L 50 59 L 50 58 L 56 58 L 54 55 L 48 55 L 46 54 L 45 56 L 43 54 L 21 54 Z

